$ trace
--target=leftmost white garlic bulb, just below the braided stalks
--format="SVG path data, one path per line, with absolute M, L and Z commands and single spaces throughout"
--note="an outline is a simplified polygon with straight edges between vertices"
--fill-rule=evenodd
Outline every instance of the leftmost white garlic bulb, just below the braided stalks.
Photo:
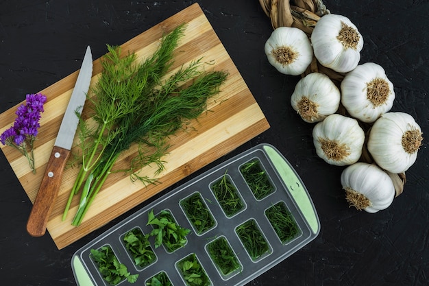
M 295 27 L 278 27 L 265 43 L 270 64 L 280 73 L 300 75 L 312 61 L 312 47 L 307 35 Z

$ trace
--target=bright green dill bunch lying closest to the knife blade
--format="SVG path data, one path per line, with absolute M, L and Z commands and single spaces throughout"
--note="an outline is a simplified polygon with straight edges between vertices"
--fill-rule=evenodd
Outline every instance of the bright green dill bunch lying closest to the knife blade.
M 158 84 L 171 64 L 173 51 L 183 36 L 185 25 L 179 25 L 160 41 L 160 46 L 149 58 L 138 64 L 135 53 L 121 55 L 121 47 L 107 45 L 108 53 L 103 56 L 103 71 L 94 88 L 87 97 L 87 109 L 90 126 L 79 115 L 79 147 L 81 147 L 82 165 L 67 201 L 62 220 L 66 219 L 73 195 L 77 194 L 88 173 L 95 168 L 103 156 L 104 149 L 121 134 L 121 121 L 135 116 L 138 102 L 147 102 L 147 96 Z M 82 203 L 82 200 L 81 200 Z

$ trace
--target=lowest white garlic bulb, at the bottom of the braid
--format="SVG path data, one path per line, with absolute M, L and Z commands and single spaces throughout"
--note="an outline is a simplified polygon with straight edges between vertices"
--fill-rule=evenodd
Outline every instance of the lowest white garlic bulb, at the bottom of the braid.
M 390 176 L 377 165 L 355 163 L 341 173 L 341 185 L 350 206 L 376 213 L 390 206 L 395 187 Z

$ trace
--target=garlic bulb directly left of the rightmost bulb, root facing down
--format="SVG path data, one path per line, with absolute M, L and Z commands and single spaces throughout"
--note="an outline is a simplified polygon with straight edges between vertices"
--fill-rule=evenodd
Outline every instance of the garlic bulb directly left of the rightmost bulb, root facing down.
M 362 154 L 365 133 L 356 119 L 333 114 L 312 130 L 317 155 L 331 165 L 356 163 Z

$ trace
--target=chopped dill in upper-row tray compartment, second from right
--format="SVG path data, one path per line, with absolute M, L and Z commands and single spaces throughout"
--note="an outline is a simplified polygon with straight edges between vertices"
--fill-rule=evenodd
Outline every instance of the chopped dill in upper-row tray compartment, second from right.
M 227 217 L 232 217 L 244 208 L 243 201 L 226 171 L 222 178 L 212 184 L 211 189 Z

